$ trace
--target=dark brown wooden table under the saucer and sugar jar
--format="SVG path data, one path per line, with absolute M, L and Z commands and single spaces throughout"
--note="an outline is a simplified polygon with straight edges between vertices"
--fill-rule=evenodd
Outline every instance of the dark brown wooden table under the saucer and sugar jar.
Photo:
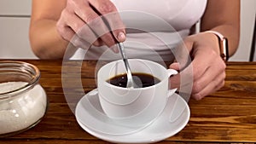
M 61 84 L 61 60 L 24 60 L 41 71 L 40 84 L 49 98 L 49 109 L 35 127 L 3 138 L 0 144 L 108 143 L 80 128 L 67 106 Z M 96 88 L 94 61 L 84 62 L 85 93 Z M 75 71 L 75 67 L 70 67 Z M 160 143 L 247 143 L 256 142 L 256 62 L 229 62 L 224 88 L 201 101 L 190 100 L 191 115 L 186 127 Z M 172 143 L 171 142 L 171 143 Z

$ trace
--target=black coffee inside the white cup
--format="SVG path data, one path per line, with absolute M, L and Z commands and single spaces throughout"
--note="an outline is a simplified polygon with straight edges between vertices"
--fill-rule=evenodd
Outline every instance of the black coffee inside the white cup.
M 144 88 L 148 86 L 152 86 L 154 84 L 160 83 L 159 78 L 155 78 L 151 74 L 148 73 L 132 73 L 132 78 L 135 83 L 138 85 L 138 88 Z M 113 84 L 115 86 L 126 88 L 127 77 L 126 73 L 117 75 L 113 78 L 109 78 L 107 82 L 109 84 Z

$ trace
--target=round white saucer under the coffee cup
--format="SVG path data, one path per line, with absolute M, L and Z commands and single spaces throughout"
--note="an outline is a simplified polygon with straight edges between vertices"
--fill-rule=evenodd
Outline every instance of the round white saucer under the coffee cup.
M 79 125 L 90 135 L 115 143 L 152 143 L 177 134 L 189 122 L 189 106 L 177 94 L 171 95 L 164 112 L 154 122 L 143 128 L 116 124 L 102 111 L 97 89 L 79 101 L 75 116 Z

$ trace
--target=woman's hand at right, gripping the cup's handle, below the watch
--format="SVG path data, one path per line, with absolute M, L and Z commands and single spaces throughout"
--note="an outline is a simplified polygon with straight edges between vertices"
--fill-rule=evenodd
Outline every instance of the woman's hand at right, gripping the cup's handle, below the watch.
M 181 45 L 183 45 L 182 48 L 179 47 L 178 49 L 188 50 L 187 54 L 191 57 L 191 63 L 189 66 L 185 66 L 187 60 L 181 60 L 170 65 L 170 68 L 181 71 L 171 78 L 172 88 L 179 86 L 181 73 L 189 72 L 189 67 L 193 70 L 191 95 L 195 100 L 201 100 L 224 86 L 226 65 L 219 55 L 218 37 L 213 33 L 201 32 L 185 37 Z M 181 55 L 181 53 L 177 54 Z

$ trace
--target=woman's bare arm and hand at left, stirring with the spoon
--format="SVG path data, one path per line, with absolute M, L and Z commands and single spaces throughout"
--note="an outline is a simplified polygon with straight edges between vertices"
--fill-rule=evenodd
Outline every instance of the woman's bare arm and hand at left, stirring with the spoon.
M 109 0 L 32 2 L 30 40 L 40 58 L 62 58 L 69 42 L 77 48 L 113 49 L 114 43 L 125 41 L 125 26 Z

